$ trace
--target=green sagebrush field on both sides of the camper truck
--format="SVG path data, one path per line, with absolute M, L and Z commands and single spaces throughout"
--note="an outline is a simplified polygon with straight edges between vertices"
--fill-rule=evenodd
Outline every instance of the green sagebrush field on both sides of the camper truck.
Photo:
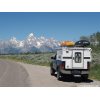
M 1 59 L 9 59 L 29 64 L 36 64 L 42 66 L 50 66 L 51 56 L 54 53 L 44 53 L 44 54 L 20 54 L 20 55 L 0 55 Z M 92 79 L 100 80 L 100 53 L 93 53 L 92 63 L 90 68 L 89 77 Z

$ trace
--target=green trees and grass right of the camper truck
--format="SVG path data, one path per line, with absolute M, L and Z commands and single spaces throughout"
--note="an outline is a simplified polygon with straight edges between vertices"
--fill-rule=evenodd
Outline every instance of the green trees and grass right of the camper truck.
M 100 80 L 100 32 L 91 34 L 90 36 L 81 36 L 81 40 L 90 41 L 92 48 L 92 63 L 90 68 L 90 78 Z

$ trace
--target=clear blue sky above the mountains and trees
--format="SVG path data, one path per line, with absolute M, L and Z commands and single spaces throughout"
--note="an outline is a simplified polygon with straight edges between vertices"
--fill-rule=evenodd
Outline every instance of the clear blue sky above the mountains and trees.
M 76 41 L 97 31 L 100 31 L 100 13 L 96 12 L 0 12 L 0 40 L 13 36 L 23 40 L 33 32 L 37 37 Z

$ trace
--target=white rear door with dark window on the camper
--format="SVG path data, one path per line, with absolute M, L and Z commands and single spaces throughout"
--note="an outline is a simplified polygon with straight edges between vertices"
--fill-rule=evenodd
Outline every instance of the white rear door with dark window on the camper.
M 83 68 L 83 50 L 73 50 L 72 67 L 75 69 Z

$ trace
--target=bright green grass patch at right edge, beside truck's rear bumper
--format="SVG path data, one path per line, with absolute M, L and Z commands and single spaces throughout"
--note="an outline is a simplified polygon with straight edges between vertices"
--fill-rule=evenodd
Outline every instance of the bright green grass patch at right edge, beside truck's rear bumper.
M 95 64 L 93 67 L 91 67 L 89 76 L 91 79 L 100 80 L 100 65 L 99 64 Z

